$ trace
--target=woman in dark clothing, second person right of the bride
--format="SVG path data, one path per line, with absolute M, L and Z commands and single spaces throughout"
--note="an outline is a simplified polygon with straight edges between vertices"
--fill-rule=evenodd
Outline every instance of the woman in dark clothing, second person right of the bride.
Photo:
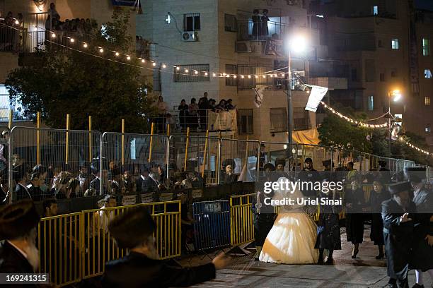
M 347 241 L 352 242 L 352 258 L 357 258 L 359 244 L 364 239 L 364 191 L 359 186 L 358 179 L 352 179 L 351 188 L 346 189 L 346 234 Z

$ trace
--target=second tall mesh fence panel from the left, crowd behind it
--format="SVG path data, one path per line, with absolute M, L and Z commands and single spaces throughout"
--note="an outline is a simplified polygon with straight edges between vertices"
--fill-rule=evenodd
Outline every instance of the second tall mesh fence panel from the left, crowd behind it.
M 105 181 L 100 194 L 135 195 L 156 190 L 137 181 L 144 172 L 150 172 L 156 184 L 169 187 L 167 136 L 106 132 L 102 143 L 100 166 Z

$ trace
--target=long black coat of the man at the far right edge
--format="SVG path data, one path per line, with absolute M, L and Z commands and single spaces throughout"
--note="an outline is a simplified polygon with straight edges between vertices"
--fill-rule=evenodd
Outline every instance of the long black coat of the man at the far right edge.
M 414 243 L 410 268 L 427 271 L 433 269 L 433 247 L 429 246 L 425 236 L 433 235 L 433 192 L 422 188 L 413 198 L 417 206 L 417 222 L 414 229 Z

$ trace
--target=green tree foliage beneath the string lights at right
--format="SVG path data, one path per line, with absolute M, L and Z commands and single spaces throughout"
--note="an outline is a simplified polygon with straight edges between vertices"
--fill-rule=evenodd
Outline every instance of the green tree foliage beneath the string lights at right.
M 352 116 L 353 119 L 361 121 L 366 119 L 364 114 L 353 115 L 351 110 L 346 109 L 344 111 L 345 109 L 340 107 L 336 107 L 336 109 L 347 116 Z M 359 127 L 331 112 L 327 112 L 327 116 L 318 128 L 318 133 L 321 145 L 347 150 L 345 156 L 347 156 L 350 150 L 372 152 L 371 141 L 366 139 L 366 136 L 371 133 L 371 129 Z

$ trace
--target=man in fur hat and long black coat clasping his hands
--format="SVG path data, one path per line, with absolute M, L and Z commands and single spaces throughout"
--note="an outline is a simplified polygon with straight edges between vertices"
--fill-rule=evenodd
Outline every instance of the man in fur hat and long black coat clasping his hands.
M 389 287 L 407 288 L 411 258 L 415 203 L 410 199 L 410 183 L 400 182 L 388 187 L 392 198 L 382 203 L 383 238 Z

